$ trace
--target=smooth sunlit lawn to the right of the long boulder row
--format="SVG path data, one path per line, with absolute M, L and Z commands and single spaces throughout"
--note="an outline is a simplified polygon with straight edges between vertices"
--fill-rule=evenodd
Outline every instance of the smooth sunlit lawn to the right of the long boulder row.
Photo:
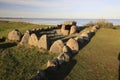
M 73 58 L 65 80 L 119 80 L 120 29 L 101 28 Z

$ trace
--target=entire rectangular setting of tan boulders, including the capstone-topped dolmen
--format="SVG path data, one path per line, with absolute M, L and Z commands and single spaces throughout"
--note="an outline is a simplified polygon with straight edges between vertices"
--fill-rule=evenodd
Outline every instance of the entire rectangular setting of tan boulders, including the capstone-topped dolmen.
M 47 28 L 36 28 L 32 30 L 27 30 L 22 36 L 19 30 L 13 30 L 8 34 L 8 40 L 10 41 L 20 41 L 19 45 L 22 46 L 34 46 L 39 49 L 49 50 L 51 53 L 58 54 L 55 59 L 48 60 L 47 68 L 53 72 L 59 69 L 64 63 L 69 62 L 72 57 L 79 52 L 81 47 L 88 43 L 90 39 L 95 35 L 99 26 L 95 25 L 91 27 L 89 30 L 83 31 L 81 34 L 78 34 L 75 38 L 70 38 L 66 43 L 62 40 L 56 40 L 51 44 L 50 38 L 47 34 L 40 35 L 40 32 L 51 31 L 53 29 L 59 29 L 60 27 L 47 27 Z M 76 33 L 77 26 L 75 21 L 66 21 L 61 26 L 61 33 L 63 35 L 71 35 Z M 56 34 L 56 33 L 55 33 Z M 39 37 L 40 38 L 39 38 Z M 44 72 L 39 72 L 37 77 L 45 78 Z M 38 80 L 32 78 L 31 80 Z M 40 80 L 42 78 L 39 78 Z

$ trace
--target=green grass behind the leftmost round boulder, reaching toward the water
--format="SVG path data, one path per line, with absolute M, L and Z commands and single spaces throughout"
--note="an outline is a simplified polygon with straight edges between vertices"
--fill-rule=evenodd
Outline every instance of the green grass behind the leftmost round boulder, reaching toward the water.
M 0 37 L 7 36 L 13 29 L 19 29 L 22 33 L 33 28 L 48 27 L 49 25 L 37 25 L 26 22 L 0 21 Z

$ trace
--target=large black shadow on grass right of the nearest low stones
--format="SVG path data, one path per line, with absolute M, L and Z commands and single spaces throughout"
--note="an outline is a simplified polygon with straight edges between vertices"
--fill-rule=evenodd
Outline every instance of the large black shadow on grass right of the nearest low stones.
M 51 71 L 51 69 L 47 68 L 46 76 L 48 80 L 64 80 L 76 63 L 77 61 L 72 59 L 69 62 L 60 65 L 56 71 Z

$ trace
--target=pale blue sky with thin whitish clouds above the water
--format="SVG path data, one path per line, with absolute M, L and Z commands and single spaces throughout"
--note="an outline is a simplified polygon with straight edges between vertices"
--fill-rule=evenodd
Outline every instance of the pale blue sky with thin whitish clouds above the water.
M 120 19 L 120 0 L 0 0 L 0 17 Z

